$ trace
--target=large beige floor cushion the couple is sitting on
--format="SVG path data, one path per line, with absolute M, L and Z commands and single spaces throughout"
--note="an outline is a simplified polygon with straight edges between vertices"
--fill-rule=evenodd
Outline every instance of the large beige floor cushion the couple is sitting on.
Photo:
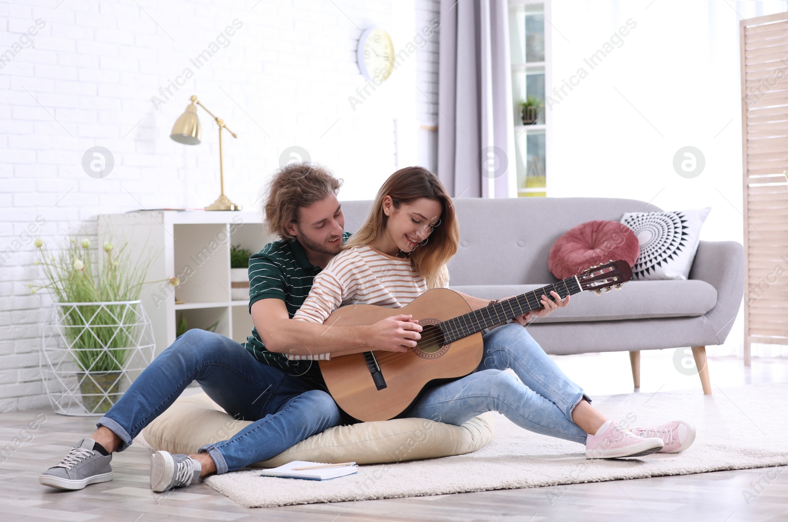
M 154 449 L 170 453 L 197 453 L 209 443 L 227 440 L 251 421 L 233 419 L 205 393 L 180 397 L 143 430 Z M 330 428 L 264 462 L 275 468 L 292 460 L 381 464 L 448 455 L 462 455 L 484 447 L 495 434 L 492 413 L 470 419 L 462 426 L 429 419 L 392 419 Z

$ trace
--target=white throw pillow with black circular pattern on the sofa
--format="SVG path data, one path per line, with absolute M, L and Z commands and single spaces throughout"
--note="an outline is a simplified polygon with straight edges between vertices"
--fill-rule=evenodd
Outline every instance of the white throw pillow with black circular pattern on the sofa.
M 701 226 L 711 207 L 692 211 L 627 212 L 621 222 L 640 243 L 635 279 L 686 279 L 697 252 Z

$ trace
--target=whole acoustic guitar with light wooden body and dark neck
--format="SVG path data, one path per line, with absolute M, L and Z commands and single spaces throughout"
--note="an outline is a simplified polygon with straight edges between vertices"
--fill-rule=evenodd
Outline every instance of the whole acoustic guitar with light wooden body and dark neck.
M 425 386 L 464 377 L 478 367 L 484 352 L 481 330 L 542 308 L 540 296 L 552 291 L 562 299 L 583 290 L 602 293 L 631 278 L 629 264 L 618 260 L 478 310 L 444 288 L 427 290 L 403 308 L 348 304 L 324 324 L 371 325 L 412 314 L 423 327 L 422 338 L 407 352 L 359 352 L 321 360 L 320 370 L 329 393 L 348 415 L 363 421 L 393 419 L 410 408 Z

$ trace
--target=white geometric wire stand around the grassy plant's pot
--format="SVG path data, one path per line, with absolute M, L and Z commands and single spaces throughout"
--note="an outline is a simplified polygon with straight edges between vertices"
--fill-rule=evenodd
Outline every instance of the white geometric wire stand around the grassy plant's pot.
M 106 413 L 154 358 L 139 300 L 54 303 L 42 328 L 39 369 L 56 413 Z

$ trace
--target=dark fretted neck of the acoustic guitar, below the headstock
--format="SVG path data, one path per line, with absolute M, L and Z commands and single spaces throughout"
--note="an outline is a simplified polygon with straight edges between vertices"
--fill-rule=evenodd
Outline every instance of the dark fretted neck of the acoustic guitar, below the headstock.
M 438 326 L 440 326 L 440 330 L 443 330 L 446 342 L 456 341 L 470 334 L 481 332 L 485 328 L 506 323 L 509 319 L 515 319 L 519 315 L 525 315 L 530 311 L 542 308 L 541 296 L 550 298 L 551 292 L 558 293 L 563 299 L 574 293 L 582 292 L 582 288 L 578 284 L 578 279 L 572 276 L 552 285 L 543 286 L 541 289 L 533 290 L 533 292 L 526 292 L 519 296 L 498 301 L 496 304 L 491 304 L 488 307 L 458 315 L 453 319 L 440 323 Z

